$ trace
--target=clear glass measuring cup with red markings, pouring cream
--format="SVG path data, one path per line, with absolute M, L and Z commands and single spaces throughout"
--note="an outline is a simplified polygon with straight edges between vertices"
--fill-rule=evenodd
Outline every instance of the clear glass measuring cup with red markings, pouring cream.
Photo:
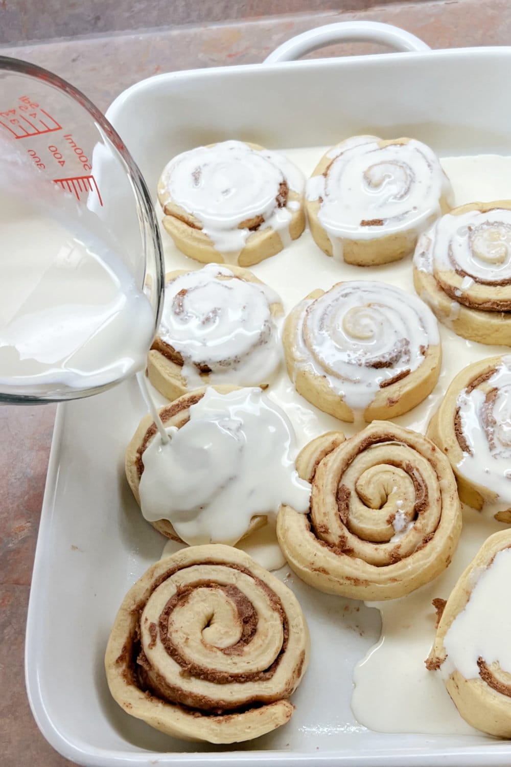
M 38 202 L 38 197 L 44 197 L 45 203 L 53 207 L 55 215 L 65 216 L 72 214 L 77 216 L 80 222 L 80 245 L 90 251 L 91 240 L 96 242 L 99 236 L 102 243 L 108 248 L 93 253 L 96 262 L 107 262 L 107 252 L 115 251 L 116 269 L 113 269 L 113 281 L 119 277 L 117 272 L 122 272 L 123 280 L 129 281 L 129 291 L 133 298 L 134 288 L 140 292 L 135 298 L 147 301 L 147 311 L 144 308 L 144 333 L 133 327 L 133 335 L 137 336 L 140 348 L 139 359 L 145 359 L 146 351 L 152 342 L 159 323 L 159 314 L 162 305 L 162 291 L 164 286 L 164 270 L 162 245 L 159 238 L 159 230 L 156 224 L 156 216 L 152 206 L 151 197 L 142 175 L 136 164 L 129 155 L 123 141 L 103 114 L 94 105 L 77 91 L 72 85 L 62 80 L 61 77 L 30 64 L 26 61 L 0 56 L 0 140 L 7 142 L 15 154 L 18 165 L 22 168 L 30 166 L 31 176 L 26 174 L 15 176 L 14 188 L 10 189 L 12 199 L 18 203 Z M 2 168 L 0 160 L 0 173 L 5 176 L 6 166 Z M 18 167 L 18 166 L 17 166 Z M 9 170 L 9 169 L 7 169 Z M 18 171 L 17 171 L 18 172 Z M 31 179 L 31 180 L 30 180 Z M 18 188 L 19 187 L 19 188 Z M 7 217 L 5 206 L 0 206 L 0 232 L 5 225 L 11 225 Z M 18 236 L 18 235 L 17 235 Z M 19 239 L 28 236 L 21 227 Z M 98 241 L 99 242 L 99 241 Z M 25 251 L 31 254 L 31 263 L 35 268 L 28 268 L 20 275 L 16 274 L 13 285 L 8 284 L 5 275 L 15 267 L 17 255 L 13 252 L 5 252 L 0 258 L 0 314 L 2 306 L 5 307 L 12 299 L 13 309 L 11 314 L 16 314 L 15 301 L 21 301 L 22 306 L 30 303 L 31 290 L 37 288 L 44 275 L 43 265 L 41 275 L 38 274 L 38 243 L 25 242 Z M 103 247 L 103 245 L 102 245 Z M 41 252 L 44 248 L 41 248 Z M 74 252 L 75 262 L 80 262 L 80 254 Z M 82 258 L 83 261 L 83 258 Z M 80 265 L 80 263 L 78 263 Z M 72 270 L 67 264 L 68 276 L 74 277 Z M 109 267 L 110 268 L 110 267 Z M 3 272 L 3 276 L 2 276 Z M 133 281 L 133 285 L 131 284 Z M 87 291 L 89 283 L 84 281 L 83 291 Z M 90 282 L 90 285 L 95 285 Z M 2 286 L 4 294 L 2 295 Z M 94 288 L 95 291 L 95 288 Z M 135 291 L 135 292 L 136 292 Z M 12 294 L 19 293 L 19 298 L 13 299 Z M 145 298 L 144 298 L 145 296 Z M 92 303 L 100 298 L 90 295 Z M 88 300 L 88 299 L 87 299 Z M 88 305 L 88 304 L 87 304 Z M 141 304 L 133 304 L 140 308 Z M 81 308 L 81 307 L 80 307 Z M 18 312 L 19 313 L 19 312 Z M 126 312 L 125 312 L 126 313 Z M 60 325 L 56 330 L 56 337 L 61 328 L 64 337 L 70 333 L 68 320 L 77 322 L 73 313 L 67 318 L 62 312 L 56 316 L 55 322 Z M 32 314 L 32 320 L 34 315 Z M 24 318 L 21 318 L 24 319 Z M 2 350 L 2 323 L 0 323 L 0 352 Z M 16 326 L 18 335 L 19 328 Z M 115 325 L 112 326 L 116 328 Z M 123 326 L 123 334 L 129 334 L 129 328 Z M 84 333 L 77 323 L 77 332 Z M 32 347 L 38 347 L 39 336 L 34 336 L 34 324 L 31 325 Z M 44 333 L 41 336 L 41 344 L 47 341 Z M 77 335 L 77 337 L 80 337 Z M 100 336 L 98 336 L 100 338 Z M 127 339 L 129 341 L 129 339 Z M 132 339 L 133 340 L 133 339 Z M 110 336 L 101 347 L 101 355 L 104 359 L 110 351 L 115 354 L 116 342 L 126 343 L 126 337 L 116 337 L 110 332 Z M 133 343 L 135 341 L 133 340 Z M 22 344 L 21 344 L 22 346 Z M 98 344 L 96 344 L 98 347 Z M 10 350 L 9 350 L 10 351 Z M 18 353 L 18 349 L 17 349 Z M 101 356 L 100 355 L 100 356 Z M 21 358 L 21 355 L 20 355 Z M 0 362 L 2 357 L 0 357 Z M 25 360 L 24 360 L 25 361 Z M 44 401 L 58 401 L 85 397 L 99 393 L 120 380 L 131 376 L 136 367 L 131 364 L 131 357 L 121 360 L 122 364 L 109 369 L 109 375 L 78 377 L 71 385 L 69 380 L 47 380 L 44 376 L 37 384 L 27 384 L 19 376 L 9 378 L 11 368 L 0 364 L 0 401 L 8 403 L 38 403 Z M 142 363 L 139 367 L 142 367 Z M 103 369 L 105 370 L 104 364 Z M 104 380 L 103 380 L 104 379 Z

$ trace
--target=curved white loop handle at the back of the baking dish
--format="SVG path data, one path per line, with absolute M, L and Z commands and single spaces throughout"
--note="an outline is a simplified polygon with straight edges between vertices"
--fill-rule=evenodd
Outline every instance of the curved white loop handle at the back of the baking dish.
M 294 61 L 310 51 L 340 42 L 374 42 L 398 51 L 430 51 L 429 45 L 410 32 L 380 21 L 339 21 L 302 32 L 287 40 L 264 59 L 264 64 Z

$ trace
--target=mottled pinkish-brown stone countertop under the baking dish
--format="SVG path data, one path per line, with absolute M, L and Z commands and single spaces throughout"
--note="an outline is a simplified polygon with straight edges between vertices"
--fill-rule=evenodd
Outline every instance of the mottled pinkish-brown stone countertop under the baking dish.
M 431 48 L 511 44 L 511 4 L 507 0 L 423 0 L 350 13 L 302 13 L 206 28 L 182 26 L 23 44 L 0 48 L 0 52 L 60 74 L 106 110 L 120 91 L 144 77 L 262 61 L 301 31 L 360 18 L 398 25 Z M 367 50 L 343 46 L 314 55 Z M 55 408 L 49 405 L 0 407 L 0 763 L 5 767 L 71 764 L 38 732 L 28 707 L 23 671 L 28 594 L 54 415 Z

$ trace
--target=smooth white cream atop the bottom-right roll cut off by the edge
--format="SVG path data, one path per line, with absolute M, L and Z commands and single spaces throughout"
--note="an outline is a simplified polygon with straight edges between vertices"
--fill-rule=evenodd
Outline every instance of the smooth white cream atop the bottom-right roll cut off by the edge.
M 509 581 L 511 549 L 505 548 L 489 567 L 483 568 L 467 605 L 447 630 L 447 658 L 441 665 L 444 678 L 457 669 L 465 679 L 479 679 L 478 658 L 483 658 L 487 666 L 499 663 L 503 671 L 511 673 Z

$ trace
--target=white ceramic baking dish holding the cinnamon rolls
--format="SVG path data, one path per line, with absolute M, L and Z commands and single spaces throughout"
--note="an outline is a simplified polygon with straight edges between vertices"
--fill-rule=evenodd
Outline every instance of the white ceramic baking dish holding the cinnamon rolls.
M 288 61 L 355 39 L 408 52 Z M 443 155 L 511 154 L 511 101 L 503 95 L 510 65 L 511 48 L 430 51 L 386 25 L 339 24 L 294 38 L 264 65 L 152 77 L 121 94 L 108 117 L 150 189 L 171 154 L 228 137 L 300 147 L 355 133 L 411 135 Z M 103 671 L 110 626 L 123 594 L 162 551 L 123 481 L 123 450 L 143 412 L 133 382 L 58 409 L 26 643 L 31 708 L 57 751 L 102 767 L 509 765 L 506 742 L 385 735 L 355 723 L 352 668 L 378 637 L 375 611 L 341 621 L 346 601 L 311 594 L 296 580 L 304 611 L 314 601 L 324 620 L 311 625 L 313 660 L 287 727 L 241 747 L 197 747 L 116 706 Z

